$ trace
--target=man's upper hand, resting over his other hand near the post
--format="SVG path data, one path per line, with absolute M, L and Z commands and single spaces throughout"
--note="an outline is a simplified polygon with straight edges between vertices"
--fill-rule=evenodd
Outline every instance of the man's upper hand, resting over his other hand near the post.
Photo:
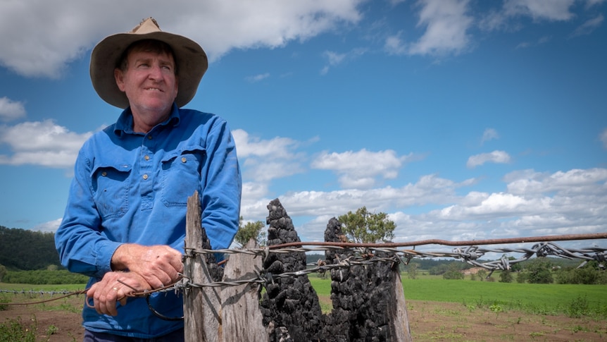
M 152 288 L 175 283 L 183 271 L 181 252 L 166 245 L 120 245 L 112 256 L 114 271 L 128 270 L 139 274 Z

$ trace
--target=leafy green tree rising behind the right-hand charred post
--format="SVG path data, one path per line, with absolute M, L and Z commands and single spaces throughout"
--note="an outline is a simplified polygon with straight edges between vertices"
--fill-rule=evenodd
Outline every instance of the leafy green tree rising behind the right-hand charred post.
M 362 207 L 337 219 L 342 223 L 342 232 L 356 243 L 388 242 L 394 238 L 396 224 L 384 212 L 370 213 Z

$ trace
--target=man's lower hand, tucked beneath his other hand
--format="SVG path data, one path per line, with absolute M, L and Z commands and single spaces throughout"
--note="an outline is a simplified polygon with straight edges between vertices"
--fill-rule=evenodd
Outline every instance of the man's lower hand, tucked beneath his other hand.
M 89 298 L 93 298 L 94 308 L 99 314 L 115 316 L 118 314 L 116 302 L 126 305 L 127 295 L 150 289 L 151 286 L 139 274 L 108 272 L 101 281 L 94 283 L 87 291 L 87 305 L 89 305 Z

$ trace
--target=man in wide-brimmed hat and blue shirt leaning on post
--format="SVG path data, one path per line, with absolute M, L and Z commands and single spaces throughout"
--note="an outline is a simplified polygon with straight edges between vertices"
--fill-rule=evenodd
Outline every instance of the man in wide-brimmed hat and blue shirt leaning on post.
M 146 299 L 127 295 L 179 279 L 194 191 L 211 247 L 232 243 L 242 181 L 230 129 L 218 116 L 180 108 L 207 66 L 199 44 L 152 18 L 92 51 L 97 94 L 125 110 L 80 149 L 55 235 L 63 266 L 91 276 L 85 341 L 183 341 L 182 321 L 160 319 Z M 149 304 L 166 317 L 183 314 L 173 292 L 154 293 Z

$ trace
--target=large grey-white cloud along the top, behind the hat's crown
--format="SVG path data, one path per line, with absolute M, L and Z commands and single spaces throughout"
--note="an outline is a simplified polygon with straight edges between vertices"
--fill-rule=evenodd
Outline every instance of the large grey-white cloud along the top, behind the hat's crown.
M 150 0 L 142 14 L 137 1 L 0 1 L 0 32 L 5 32 L 0 65 L 21 75 L 61 77 L 70 61 L 105 36 L 132 30 L 142 16 L 156 18 L 162 30 L 196 40 L 214 61 L 231 49 L 282 47 L 357 23 L 361 2 Z

